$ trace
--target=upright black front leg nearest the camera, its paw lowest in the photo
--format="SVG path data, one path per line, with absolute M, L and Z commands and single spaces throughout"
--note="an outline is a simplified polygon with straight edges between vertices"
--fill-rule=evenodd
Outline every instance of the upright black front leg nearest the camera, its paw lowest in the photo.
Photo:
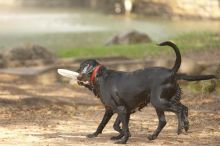
M 119 120 L 122 122 L 122 132 L 123 137 L 121 140 L 117 141 L 116 144 L 125 144 L 129 138 L 129 119 L 130 119 L 130 112 L 126 109 L 125 106 L 119 106 L 117 107 L 117 113 L 119 116 Z

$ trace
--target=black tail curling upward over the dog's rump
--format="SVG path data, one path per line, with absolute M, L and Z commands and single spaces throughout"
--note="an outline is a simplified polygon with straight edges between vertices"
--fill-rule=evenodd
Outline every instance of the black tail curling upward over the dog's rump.
M 178 47 L 174 43 L 172 43 L 170 41 L 165 41 L 165 42 L 162 42 L 162 43 L 160 43 L 158 45 L 159 46 L 170 46 L 175 51 L 175 53 L 176 53 L 176 61 L 175 61 L 175 64 L 174 64 L 174 66 L 173 66 L 173 68 L 171 70 L 172 70 L 173 74 L 176 74 L 177 71 L 180 68 L 180 65 L 181 65 L 181 54 L 180 54 L 180 51 L 179 51 Z

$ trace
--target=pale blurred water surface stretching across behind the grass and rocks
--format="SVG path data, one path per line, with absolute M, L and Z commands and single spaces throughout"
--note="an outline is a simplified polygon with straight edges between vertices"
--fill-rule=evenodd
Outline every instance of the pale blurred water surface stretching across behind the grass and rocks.
M 128 29 L 163 41 L 192 31 L 220 32 L 220 21 L 128 18 L 76 9 L 0 10 L 0 49 L 40 44 L 51 49 L 102 46 Z

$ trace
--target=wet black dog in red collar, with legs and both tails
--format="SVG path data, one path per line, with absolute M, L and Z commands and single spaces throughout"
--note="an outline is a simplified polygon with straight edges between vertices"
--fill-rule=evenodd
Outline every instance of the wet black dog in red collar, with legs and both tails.
M 178 134 L 183 128 L 185 131 L 188 130 L 188 108 L 180 103 L 181 89 L 177 80 L 205 80 L 215 78 L 215 76 L 192 77 L 177 74 L 181 65 L 179 49 L 169 41 L 159 45 L 168 45 L 174 49 L 176 61 L 172 69 L 151 67 L 134 72 L 120 72 L 108 70 L 95 60 L 87 60 L 80 65 L 78 83 L 93 91 L 100 98 L 106 110 L 96 132 L 88 135 L 88 137 L 96 137 L 102 133 L 112 115 L 117 113 L 118 117 L 114 129 L 120 134 L 112 139 L 120 139 L 116 143 L 126 143 L 130 135 L 128 127 L 130 114 L 148 103 L 155 107 L 159 119 L 157 129 L 148 136 L 150 140 L 155 139 L 166 125 L 165 111 L 174 112 L 177 115 Z M 89 84 L 84 84 L 85 81 L 89 81 Z M 120 123 L 122 123 L 122 129 L 119 126 Z

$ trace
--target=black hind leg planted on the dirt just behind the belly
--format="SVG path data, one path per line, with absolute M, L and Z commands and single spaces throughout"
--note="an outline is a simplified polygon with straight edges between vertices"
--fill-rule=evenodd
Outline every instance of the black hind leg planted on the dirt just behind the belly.
M 149 140 L 154 140 L 159 135 L 160 131 L 163 129 L 163 127 L 166 125 L 166 119 L 164 115 L 164 111 L 161 111 L 159 109 L 156 109 L 157 116 L 159 119 L 159 123 L 157 126 L 157 129 L 153 132 L 153 134 L 148 135 Z

